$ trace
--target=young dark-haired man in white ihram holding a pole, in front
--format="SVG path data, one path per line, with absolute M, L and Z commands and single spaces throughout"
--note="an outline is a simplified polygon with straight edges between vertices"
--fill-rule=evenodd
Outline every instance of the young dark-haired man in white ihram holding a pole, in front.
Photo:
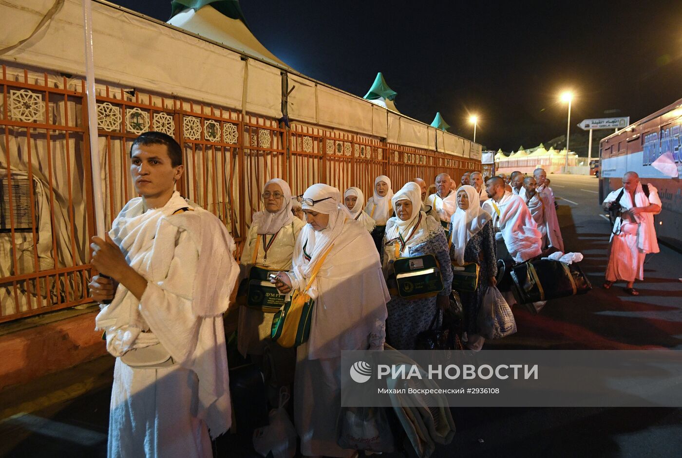
M 141 197 L 91 244 L 91 294 L 113 299 L 95 319 L 116 356 L 107 455 L 211 457 L 210 437 L 231 424 L 222 314 L 239 273 L 235 244 L 174 190 L 183 166 L 172 137 L 140 135 L 130 161 Z

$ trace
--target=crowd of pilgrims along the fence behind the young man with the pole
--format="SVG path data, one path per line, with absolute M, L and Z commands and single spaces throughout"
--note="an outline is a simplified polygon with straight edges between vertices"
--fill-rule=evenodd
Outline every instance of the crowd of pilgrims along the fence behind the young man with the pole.
M 539 186 L 531 177 L 509 190 L 501 177 L 484 186 L 481 173 L 471 172 L 456 187 L 442 173 L 429 194 L 424 179 L 394 192 L 391 179 L 381 175 L 366 204 L 359 187 L 341 194 L 318 183 L 296 198 L 281 179 L 265 183 L 264 209 L 254 214 L 241 255 L 241 279 L 254 266 L 276 269 L 271 282 L 285 294 L 306 288 L 321 263 L 308 289 L 315 300 L 310 338 L 295 349 L 294 424 L 303 455 L 353 455 L 337 444 L 342 350 L 384 344 L 415 350 L 420 333 L 441 325 L 439 310 L 453 292 L 452 267 L 469 262 L 479 264 L 480 280 L 475 291 L 459 292 L 461 337 L 466 348 L 480 350 L 485 339 L 477 318 L 486 290 L 496 285 L 498 258 L 522 262 L 549 247 L 563 251 L 546 174 L 537 170 L 535 176 Z M 396 260 L 424 255 L 438 262 L 445 287 L 433 296 L 400 296 Z M 272 324 L 273 314 L 240 307 L 239 351 L 258 361 L 271 345 Z

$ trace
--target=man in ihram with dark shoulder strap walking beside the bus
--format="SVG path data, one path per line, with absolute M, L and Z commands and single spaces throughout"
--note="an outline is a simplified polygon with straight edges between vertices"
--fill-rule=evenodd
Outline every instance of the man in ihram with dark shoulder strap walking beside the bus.
M 604 199 L 604 207 L 618 202 L 621 216 L 616 218 L 612 229 L 611 246 L 606 266 L 608 290 L 616 281 L 625 281 L 625 292 L 637 296 L 635 279 L 644 279 L 644 256 L 658 253 L 658 240 L 653 215 L 661 211 L 661 199 L 651 184 L 642 185 L 638 174 L 623 175 L 623 187 L 611 192 Z

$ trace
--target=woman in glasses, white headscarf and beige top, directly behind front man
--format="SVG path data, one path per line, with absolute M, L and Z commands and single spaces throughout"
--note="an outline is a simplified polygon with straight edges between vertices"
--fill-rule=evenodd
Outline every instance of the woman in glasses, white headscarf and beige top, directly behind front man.
M 240 279 L 249 276 L 252 266 L 288 271 L 294 245 L 305 223 L 291 212 L 291 189 L 286 181 L 274 178 L 263 188 L 263 211 L 254 213 L 241 253 Z M 246 294 L 246 284 L 240 294 Z M 237 348 L 246 354 L 262 355 L 270 339 L 273 314 L 247 305 L 239 308 Z

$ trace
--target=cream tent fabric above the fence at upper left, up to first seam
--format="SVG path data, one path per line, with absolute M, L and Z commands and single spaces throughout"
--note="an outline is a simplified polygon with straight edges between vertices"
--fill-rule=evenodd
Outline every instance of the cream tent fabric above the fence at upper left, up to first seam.
M 53 1 L 0 2 L 3 27 L 38 22 Z M 147 91 L 177 94 L 200 102 L 241 107 L 243 67 L 239 55 L 158 22 L 93 2 L 95 75 Z M 0 33 L 0 49 L 25 37 L 25 30 Z M 67 74 L 85 74 L 83 5 L 65 0 L 61 10 L 38 33 L 1 55 Z M 170 50 L 173 56 L 170 57 Z M 175 65 L 177 62 L 204 63 Z M 229 84 L 226 84 L 229 82 Z

